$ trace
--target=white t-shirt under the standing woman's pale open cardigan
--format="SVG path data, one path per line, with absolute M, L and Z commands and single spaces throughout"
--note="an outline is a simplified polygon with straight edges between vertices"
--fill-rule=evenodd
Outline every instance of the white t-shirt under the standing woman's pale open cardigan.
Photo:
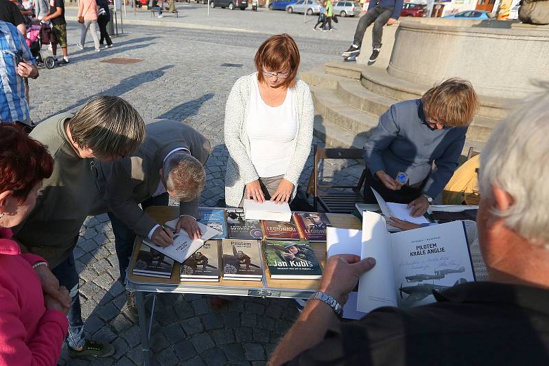
M 297 108 L 292 89 L 280 106 L 268 106 L 261 98 L 254 78 L 250 106 L 246 116 L 246 133 L 250 141 L 250 159 L 260 177 L 286 173 L 297 133 Z

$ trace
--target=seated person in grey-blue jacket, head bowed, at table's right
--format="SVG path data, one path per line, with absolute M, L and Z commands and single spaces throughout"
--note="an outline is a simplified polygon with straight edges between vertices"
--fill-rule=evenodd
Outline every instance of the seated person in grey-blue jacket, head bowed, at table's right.
M 364 202 L 377 203 L 373 188 L 385 201 L 407 203 L 412 216 L 425 214 L 454 174 L 477 111 L 473 86 L 459 78 L 390 106 L 364 145 Z M 403 184 L 396 181 L 401 172 Z

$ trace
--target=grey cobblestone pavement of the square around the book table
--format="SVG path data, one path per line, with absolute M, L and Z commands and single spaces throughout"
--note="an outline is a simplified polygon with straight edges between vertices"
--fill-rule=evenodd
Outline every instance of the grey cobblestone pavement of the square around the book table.
M 110 94 L 129 100 L 145 118 L 184 121 L 215 147 L 207 163 L 207 188 L 202 194 L 202 205 L 215 206 L 224 194 L 225 101 L 233 82 L 254 71 L 253 56 L 266 36 L 126 26 L 127 34 L 114 39 L 113 49 L 95 53 L 90 43 L 84 51 L 73 46 L 78 39 L 78 23 L 69 23 L 68 29 L 71 64 L 43 69 L 40 78 L 30 80 L 33 119 L 73 111 L 92 95 Z M 288 30 L 281 27 L 279 32 Z M 345 45 L 300 36 L 296 41 L 304 70 L 338 57 Z M 115 65 L 105 62 L 110 58 L 141 61 Z M 329 165 L 327 175 L 356 181 L 361 168 L 351 164 L 345 170 Z M 302 183 L 310 169 L 309 159 Z M 69 358 L 64 351 L 60 365 L 139 365 L 139 326 L 130 320 L 124 287 L 116 281 L 114 236 L 106 214 L 86 220 L 75 258 L 86 333 L 90 338 L 112 342 L 117 352 L 109 358 L 86 360 Z M 161 294 L 152 332 L 153 359 L 163 366 L 264 365 L 296 315 L 288 299 L 238 298 L 215 310 L 207 296 Z

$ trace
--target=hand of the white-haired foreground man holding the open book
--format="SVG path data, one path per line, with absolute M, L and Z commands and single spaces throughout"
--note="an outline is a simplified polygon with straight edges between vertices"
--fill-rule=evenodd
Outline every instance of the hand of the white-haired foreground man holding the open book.
M 318 290 L 331 295 L 343 305 L 347 302 L 349 293 L 358 284 L 358 277 L 370 271 L 373 266 L 373 258 L 360 260 L 358 255 L 353 254 L 332 255 L 324 267 Z

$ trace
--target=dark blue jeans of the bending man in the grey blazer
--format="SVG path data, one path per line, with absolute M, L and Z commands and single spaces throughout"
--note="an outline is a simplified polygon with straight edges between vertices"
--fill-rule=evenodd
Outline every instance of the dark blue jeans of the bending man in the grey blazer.
M 170 201 L 170 196 L 167 193 L 163 193 L 160 196 L 147 198 L 141 203 L 141 207 L 145 211 L 150 206 L 167 206 L 168 201 Z M 112 212 L 108 212 L 108 217 L 110 218 L 110 223 L 113 225 L 113 233 L 115 234 L 115 248 L 120 268 L 120 281 L 124 283 L 136 235 L 128 225 L 117 218 Z

